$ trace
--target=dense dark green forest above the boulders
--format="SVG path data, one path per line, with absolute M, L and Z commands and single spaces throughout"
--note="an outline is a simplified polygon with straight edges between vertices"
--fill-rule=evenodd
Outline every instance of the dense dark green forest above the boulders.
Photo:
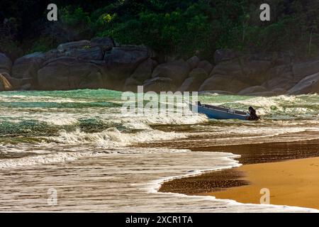
M 145 44 L 157 52 L 212 57 L 218 48 L 240 51 L 319 51 L 318 0 L 55 1 L 59 21 L 46 20 L 46 1 L 1 1 L 0 51 L 11 55 L 48 50 L 58 43 L 109 36 L 121 44 Z M 259 5 L 271 21 L 259 20 Z M 2 19 L 1 19 L 2 18 Z M 2 26 L 3 27 L 3 26 Z

